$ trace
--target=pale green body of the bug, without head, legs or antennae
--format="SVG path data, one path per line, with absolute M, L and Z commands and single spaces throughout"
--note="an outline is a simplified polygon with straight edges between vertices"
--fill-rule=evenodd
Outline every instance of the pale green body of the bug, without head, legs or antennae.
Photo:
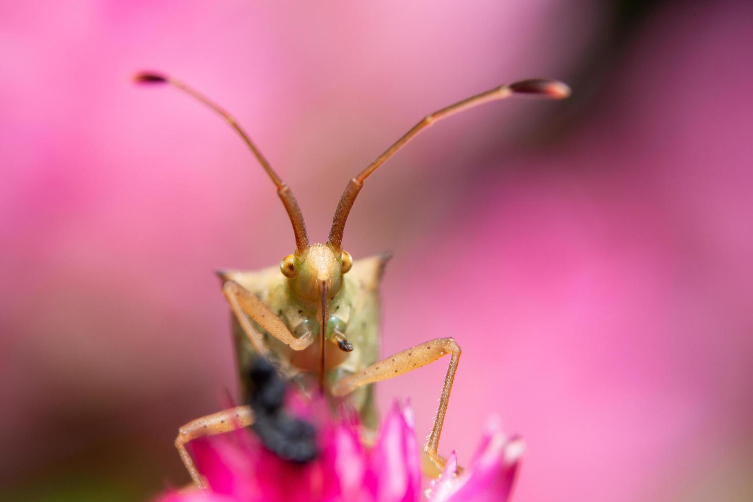
M 343 352 L 335 342 L 328 342 L 328 370 L 325 385 L 328 389 L 338 380 L 363 370 L 377 362 L 380 340 L 380 282 L 389 255 L 376 255 L 355 260 L 352 269 L 343 275 L 343 287 L 329 301 L 329 320 L 326 330 L 330 338 L 334 330 L 343 332 L 353 345 L 351 352 Z M 254 272 L 227 271 L 221 274 L 224 280 L 238 282 L 263 301 L 285 322 L 294 336 L 303 336 L 311 330 L 314 342 L 306 351 L 293 351 L 274 336 L 263 330 L 252 319 L 264 343 L 270 348 L 270 358 L 279 370 L 304 389 L 317 385 L 318 370 L 309 364 L 311 357 L 319 357 L 322 330 L 319 329 L 316 305 L 297 299 L 291 294 L 288 278 L 280 272 L 279 266 Z M 250 318 L 249 318 L 250 319 Z M 343 331 L 344 329 L 344 331 Z M 255 358 L 255 350 L 233 318 L 233 342 L 236 349 L 236 362 L 245 382 L 245 374 Z M 241 388 L 243 402 L 248 399 L 248 388 Z M 377 427 L 377 409 L 373 397 L 373 385 L 358 388 L 348 397 L 348 402 L 358 411 L 361 422 L 369 428 Z

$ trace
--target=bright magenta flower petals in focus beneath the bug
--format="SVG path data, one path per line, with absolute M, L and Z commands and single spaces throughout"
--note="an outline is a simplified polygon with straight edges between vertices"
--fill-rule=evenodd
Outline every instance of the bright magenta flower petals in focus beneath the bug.
M 314 461 L 284 461 L 248 429 L 191 443 L 209 489 L 172 492 L 160 502 L 414 502 L 422 499 L 421 457 L 410 406 L 392 406 L 373 446 L 364 446 L 353 421 L 320 426 L 321 454 Z M 431 481 L 429 502 L 508 500 L 523 443 L 505 437 L 496 422 L 484 431 L 467 469 L 455 452 Z

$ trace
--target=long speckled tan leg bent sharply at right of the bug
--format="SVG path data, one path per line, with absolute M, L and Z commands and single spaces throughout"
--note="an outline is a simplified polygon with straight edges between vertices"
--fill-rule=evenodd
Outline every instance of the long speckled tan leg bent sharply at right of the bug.
M 439 409 L 437 409 L 437 415 L 434 417 L 434 425 L 431 426 L 431 434 L 429 434 L 424 446 L 426 455 L 428 455 L 436 467 L 444 469 L 444 458 L 441 458 L 437 450 L 439 449 L 439 437 L 442 434 L 444 415 L 447 414 L 447 403 L 450 401 L 450 391 L 453 389 L 453 380 L 455 379 L 455 372 L 458 369 L 458 362 L 460 361 L 460 352 L 460 347 L 454 339 L 437 338 L 431 340 L 431 342 L 425 342 L 398 354 L 386 357 L 386 359 L 372 364 L 359 373 L 346 376 L 334 385 L 332 394 L 335 396 L 345 396 L 355 391 L 356 388 L 361 387 L 361 385 L 394 378 L 395 376 L 433 363 L 444 355 L 451 354 L 447 374 L 444 376 L 442 394 L 439 398 Z

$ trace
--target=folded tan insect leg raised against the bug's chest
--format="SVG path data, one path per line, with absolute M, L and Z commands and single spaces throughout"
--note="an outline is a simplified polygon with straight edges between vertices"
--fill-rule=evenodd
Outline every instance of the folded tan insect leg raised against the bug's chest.
M 230 303 L 230 309 L 233 310 L 233 314 L 238 319 L 246 336 L 251 340 L 252 345 L 254 345 L 255 350 L 259 354 L 264 355 L 269 351 L 254 327 L 248 322 L 246 315 L 250 316 L 272 336 L 285 343 L 285 345 L 288 345 L 294 351 L 302 351 L 314 341 L 313 336 L 310 335 L 303 336 L 302 338 L 293 336 L 293 333 L 288 330 L 285 323 L 268 306 L 264 305 L 264 302 L 236 281 L 225 281 L 222 284 L 222 294 L 227 298 L 227 301 Z

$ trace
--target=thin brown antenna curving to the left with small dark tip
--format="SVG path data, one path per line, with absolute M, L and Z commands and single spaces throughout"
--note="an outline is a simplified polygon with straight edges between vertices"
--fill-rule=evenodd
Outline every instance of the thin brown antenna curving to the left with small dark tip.
M 274 169 L 272 169 L 272 166 L 270 166 L 270 163 L 267 162 L 267 159 L 264 158 L 264 155 L 261 154 L 261 151 L 257 148 L 256 145 L 254 145 L 254 142 L 251 141 L 251 138 L 248 136 L 248 134 L 242 129 L 242 127 L 236 122 L 236 120 L 229 113 L 227 113 L 227 111 L 224 111 L 224 109 L 220 105 L 213 102 L 211 99 L 204 96 L 199 91 L 194 90 L 192 87 L 188 87 L 186 84 L 176 80 L 175 78 L 167 77 L 166 75 L 160 75 L 158 73 L 145 71 L 136 74 L 133 80 L 139 84 L 170 84 L 172 85 L 172 87 L 175 87 L 183 91 L 184 93 L 194 96 L 194 98 L 198 99 L 209 108 L 212 108 L 212 110 L 214 110 L 215 112 L 220 114 L 221 117 L 227 120 L 227 122 L 230 123 L 230 126 L 236 130 L 238 135 L 240 135 L 242 140 L 252 151 L 252 154 L 254 154 L 256 160 L 259 161 L 261 167 L 265 172 L 267 172 L 267 175 L 269 175 L 269 177 L 272 179 L 272 182 L 277 187 L 277 195 L 280 199 L 282 199 L 282 204 L 285 205 L 285 210 L 288 211 L 288 217 L 290 217 L 290 222 L 293 225 L 295 247 L 297 251 L 303 251 L 306 249 L 306 246 L 309 245 L 309 236 L 308 234 L 306 234 L 306 224 L 303 223 L 303 213 L 301 213 L 300 211 L 300 207 L 298 206 L 298 202 L 293 196 L 293 192 L 290 190 L 288 185 L 286 185 L 285 182 L 280 179 Z

